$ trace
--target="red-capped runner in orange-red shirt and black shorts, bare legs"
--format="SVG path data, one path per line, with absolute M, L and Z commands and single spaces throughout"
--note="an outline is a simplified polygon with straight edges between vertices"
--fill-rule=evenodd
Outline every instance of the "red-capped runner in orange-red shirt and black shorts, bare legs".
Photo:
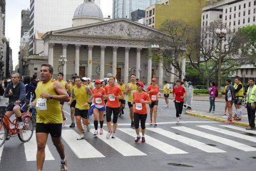
M 157 105 L 158 105 L 158 93 L 159 87 L 156 85 L 157 79 L 152 78 L 152 84 L 147 87 L 146 92 L 150 95 L 150 124 L 152 125 L 152 115 L 154 110 L 154 126 L 157 126 Z

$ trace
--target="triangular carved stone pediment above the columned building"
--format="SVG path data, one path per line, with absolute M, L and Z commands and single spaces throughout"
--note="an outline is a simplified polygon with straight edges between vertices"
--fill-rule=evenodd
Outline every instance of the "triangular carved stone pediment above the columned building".
M 52 34 L 150 39 L 151 34 L 154 32 L 158 31 L 122 18 L 91 25 L 57 30 L 53 31 Z

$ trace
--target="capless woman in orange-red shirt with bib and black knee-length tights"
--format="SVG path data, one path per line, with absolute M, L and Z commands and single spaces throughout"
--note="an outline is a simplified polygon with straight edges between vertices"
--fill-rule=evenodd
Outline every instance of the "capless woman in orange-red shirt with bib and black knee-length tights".
M 106 135 L 106 138 L 116 138 L 116 127 L 117 127 L 117 118 L 120 112 L 120 103 L 119 99 L 123 98 L 123 93 L 121 89 L 115 85 L 116 77 L 112 76 L 109 78 L 109 86 L 105 87 L 106 95 L 104 98 L 108 98 L 106 102 L 106 125 L 108 126 L 109 133 Z M 111 115 L 113 113 L 113 133 L 111 131 Z

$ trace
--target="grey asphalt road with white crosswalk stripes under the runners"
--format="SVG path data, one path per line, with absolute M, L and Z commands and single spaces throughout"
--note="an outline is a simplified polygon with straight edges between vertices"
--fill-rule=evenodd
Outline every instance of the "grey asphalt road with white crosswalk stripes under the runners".
M 194 101 L 194 109 L 207 111 L 207 101 Z M 243 127 L 224 127 L 224 123 L 184 115 L 176 125 L 173 103 L 164 108 L 159 102 L 158 127 L 146 126 L 146 143 L 134 144 L 135 131 L 130 128 L 127 107 L 119 117 L 118 139 L 105 135 L 77 141 L 77 130 L 70 129 L 70 109 L 62 138 L 69 170 L 254 170 L 256 167 L 256 131 Z M 217 102 L 217 110 L 224 109 Z M 92 119 L 93 117 L 91 117 Z M 148 120 L 148 119 L 147 119 Z M 91 120 L 91 131 L 94 131 Z M 106 129 L 106 126 L 103 126 Z M 47 142 L 44 170 L 59 170 L 59 156 L 50 137 Z M 0 148 L 0 170 L 36 170 L 36 142 L 22 143 L 11 138 Z M 176 164 L 175 164 L 176 163 Z M 178 165 L 178 166 L 175 166 Z

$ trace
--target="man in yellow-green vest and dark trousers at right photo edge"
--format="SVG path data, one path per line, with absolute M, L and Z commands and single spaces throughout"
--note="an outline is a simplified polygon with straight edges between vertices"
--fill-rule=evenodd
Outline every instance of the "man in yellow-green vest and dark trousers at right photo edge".
M 247 108 L 247 115 L 249 120 L 249 127 L 246 130 L 253 130 L 255 128 L 255 108 L 256 108 L 256 85 L 254 79 L 249 79 L 249 88 L 247 90 L 247 98 L 245 108 Z

